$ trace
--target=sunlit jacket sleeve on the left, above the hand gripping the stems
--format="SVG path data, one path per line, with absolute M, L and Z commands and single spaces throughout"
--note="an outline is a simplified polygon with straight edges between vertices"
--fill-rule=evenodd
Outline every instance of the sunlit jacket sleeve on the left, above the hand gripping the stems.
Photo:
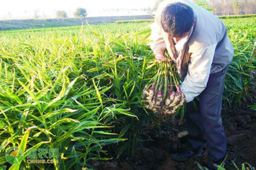
M 154 20 L 154 23 L 151 24 L 151 36 L 150 39 L 153 42 L 150 44 L 150 48 L 156 54 L 163 54 L 166 50 L 166 44 L 163 40 L 163 36 L 160 32 L 160 26 L 157 23 L 157 20 Z

